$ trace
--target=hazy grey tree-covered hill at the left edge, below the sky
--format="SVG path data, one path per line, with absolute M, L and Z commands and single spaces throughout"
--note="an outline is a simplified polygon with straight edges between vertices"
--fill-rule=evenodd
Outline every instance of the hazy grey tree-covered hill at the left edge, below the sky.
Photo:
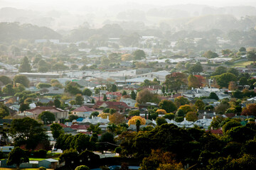
M 60 39 L 61 35 L 46 27 L 31 24 L 0 23 L 0 42 L 13 40 Z

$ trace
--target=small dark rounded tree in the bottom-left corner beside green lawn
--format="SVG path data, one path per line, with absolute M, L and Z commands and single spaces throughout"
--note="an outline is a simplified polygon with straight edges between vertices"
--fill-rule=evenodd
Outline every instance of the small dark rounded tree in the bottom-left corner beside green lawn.
M 9 153 L 7 159 L 7 165 L 16 164 L 17 169 L 19 170 L 19 166 L 23 162 L 29 162 L 28 156 L 26 152 L 20 147 L 14 147 L 14 149 Z

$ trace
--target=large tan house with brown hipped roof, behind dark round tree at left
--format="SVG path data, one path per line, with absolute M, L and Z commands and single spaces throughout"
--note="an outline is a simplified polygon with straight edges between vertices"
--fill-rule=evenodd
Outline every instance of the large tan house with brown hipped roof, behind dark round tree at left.
M 55 106 L 36 106 L 36 108 L 27 110 L 27 112 L 33 113 L 35 115 L 35 118 L 37 118 L 38 115 L 41 114 L 43 111 L 50 111 L 51 113 L 53 113 L 55 115 L 56 122 L 58 122 L 58 120 L 68 118 L 68 111 L 56 108 Z

